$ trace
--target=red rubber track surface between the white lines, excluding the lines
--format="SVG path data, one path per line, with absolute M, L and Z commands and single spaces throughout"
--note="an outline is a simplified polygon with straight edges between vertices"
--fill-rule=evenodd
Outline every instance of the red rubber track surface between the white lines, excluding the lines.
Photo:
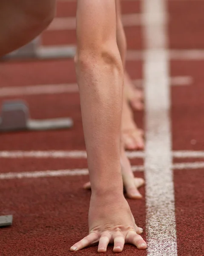
M 169 1 L 169 41 L 171 49 L 203 48 L 204 2 Z M 61 2 L 58 17 L 75 15 L 75 3 Z M 139 13 L 140 2 L 123 1 L 124 13 Z M 142 27 L 126 27 L 128 49 L 142 49 Z M 45 31 L 43 44 L 75 44 L 75 31 Z M 173 60 L 171 76 L 191 76 L 189 86 L 172 87 L 171 121 L 172 150 L 204 148 L 204 60 Z M 142 61 L 128 61 L 132 79 L 142 79 Z M 136 72 L 135 72 L 136 70 Z M 0 86 L 62 84 L 76 81 L 72 60 L 0 63 Z M 0 104 L 4 99 L 0 98 Z M 16 132 L 0 134 L 0 151 L 11 150 L 85 150 L 78 93 L 18 96 L 30 106 L 32 118 L 72 116 L 74 128 L 63 131 Z M 143 113 L 135 113 L 138 126 L 143 127 Z M 202 158 L 174 159 L 174 163 L 194 163 Z M 133 165 L 143 160 L 131 160 Z M 0 158 L 2 173 L 87 168 L 85 159 Z M 137 172 L 138 177 L 143 173 Z M 84 192 L 87 176 L 43 177 L 0 180 L 0 215 L 13 214 L 11 227 L 0 229 L 0 255 L 49 256 L 96 255 L 93 245 L 76 253 L 69 247 L 87 234 L 87 212 L 90 192 Z M 204 256 L 204 170 L 174 171 L 175 216 L 179 256 Z M 144 188 L 141 189 L 144 195 Z M 145 199 L 128 200 L 136 223 L 144 228 Z M 121 255 L 146 255 L 126 245 Z M 112 247 L 104 255 L 113 255 Z

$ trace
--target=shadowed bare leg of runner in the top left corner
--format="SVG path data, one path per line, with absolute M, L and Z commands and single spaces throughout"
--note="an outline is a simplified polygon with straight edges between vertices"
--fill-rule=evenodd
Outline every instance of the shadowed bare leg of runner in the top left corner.
M 55 0 L 0 0 L 0 56 L 39 35 L 55 16 Z

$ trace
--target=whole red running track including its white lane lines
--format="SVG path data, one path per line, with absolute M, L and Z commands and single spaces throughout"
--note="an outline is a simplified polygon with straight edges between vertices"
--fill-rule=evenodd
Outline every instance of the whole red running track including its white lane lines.
M 146 114 L 135 113 L 146 150 L 129 152 L 135 175 L 146 177 L 146 197 L 128 202 L 148 250 L 126 245 L 121 255 L 203 256 L 204 1 L 122 4 L 127 70 L 146 96 Z M 75 9 L 74 0 L 58 1 L 44 47 L 75 45 Z M 0 103 L 25 99 L 32 118 L 75 122 L 68 131 L 0 134 L 0 215 L 14 216 L 0 229 L 2 256 L 97 255 L 95 245 L 69 252 L 87 234 L 90 198 L 75 82 L 71 59 L 0 63 Z

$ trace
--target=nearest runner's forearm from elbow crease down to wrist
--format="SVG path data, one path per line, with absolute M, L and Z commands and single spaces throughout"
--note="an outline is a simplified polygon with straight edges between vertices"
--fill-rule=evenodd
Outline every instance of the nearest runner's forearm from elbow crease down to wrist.
M 123 70 L 99 56 L 78 61 L 77 75 L 92 191 L 122 190 L 120 131 Z M 115 62 L 115 63 L 114 63 Z

